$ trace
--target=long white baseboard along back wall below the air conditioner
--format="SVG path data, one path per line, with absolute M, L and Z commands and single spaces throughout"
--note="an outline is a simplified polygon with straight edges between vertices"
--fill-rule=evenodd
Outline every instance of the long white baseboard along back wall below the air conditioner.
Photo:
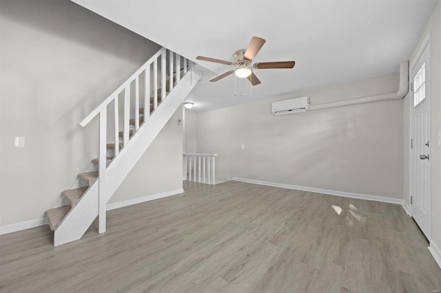
M 351 198 L 356 198 L 356 199 L 372 200 L 375 202 L 387 202 L 389 204 L 402 205 L 402 199 L 398 199 L 398 198 L 382 197 L 382 196 L 377 196 L 377 195 L 365 195 L 365 194 L 361 194 L 361 193 L 347 193 L 345 191 L 331 191 L 329 189 L 297 186 L 297 185 L 274 183 L 274 182 L 265 182 L 265 181 L 260 181 L 260 180 L 252 180 L 252 179 L 245 179 L 245 178 L 238 178 L 238 177 L 233 177 L 232 180 L 238 181 L 238 182 L 266 185 L 266 186 L 295 189 L 298 191 L 309 191 L 312 193 L 324 193 L 327 195 L 337 195 L 337 196 L 341 196 L 341 197 L 351 197 Z

